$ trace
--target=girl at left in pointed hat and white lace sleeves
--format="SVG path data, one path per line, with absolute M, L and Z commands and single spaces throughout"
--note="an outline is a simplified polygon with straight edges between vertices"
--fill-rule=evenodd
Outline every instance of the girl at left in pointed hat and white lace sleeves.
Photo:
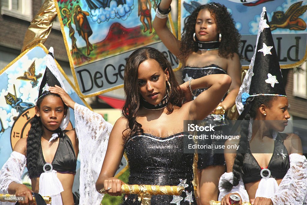
M 80 154 L 80 204 L 98 205 L 103 195 L 94 191 L 94 183 L 112 126 L 70 98 L 57 71 L 53 49 L 49 52 L 28 137 L 17 141 L 3 165 L 0 191 L 23 196 L 20 205 L 33 204 L 32 192 L 50 196 L 53 205 L 73 205 L 72 185 Z M 72 130 L 66 130 L 69 108 L 75 113 L 76 128 Z M 32 190 L 21 184 L 25 165 Z

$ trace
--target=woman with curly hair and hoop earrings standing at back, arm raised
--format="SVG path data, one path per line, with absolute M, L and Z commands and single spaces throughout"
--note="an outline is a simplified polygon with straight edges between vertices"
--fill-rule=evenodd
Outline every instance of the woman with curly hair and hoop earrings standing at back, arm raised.
M 153 28 L 165 46 L 180 59 L 183 65 L 183 81 L 218 73 L 228 74 L 232 79 L 228 95 L 224 96 L 223 101 L 205 119 L 207 123 L 220 127 L 225 124 L 225 110 L 235 104 L 235 97 L 239 91 L 240 35 L 227 8 L 219 3 L 208 3 L 197 7 L 185 19 L 184 31 L 179 41 L 167 28 L 167 18 L 164 18 L 170 3 L 171 0 L 161 1 Z M 198 89 L 195 96 L 204 90 Z M 219 132 L 221 130 L 210 134 L 217 135 Z M 206 142 L 211 143 L 215 144 L 216 141 Z M 197 194 L 202 205 L 209 204 L 211 199 L 217 200 L 218 197 L 219 178 L 225 171 L 224 156 L 215 153 L 214 150 L 210 153 L 198 153 L 197 164 Z

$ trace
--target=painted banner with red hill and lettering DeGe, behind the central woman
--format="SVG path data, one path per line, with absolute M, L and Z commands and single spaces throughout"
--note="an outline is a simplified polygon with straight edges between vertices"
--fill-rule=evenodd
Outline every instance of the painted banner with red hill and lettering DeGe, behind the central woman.
M 159 0 L 54 1 L 80 96 L 122 87 L 126 59 L 140 47 L 159 49 L 179 66 L 152 28 Z

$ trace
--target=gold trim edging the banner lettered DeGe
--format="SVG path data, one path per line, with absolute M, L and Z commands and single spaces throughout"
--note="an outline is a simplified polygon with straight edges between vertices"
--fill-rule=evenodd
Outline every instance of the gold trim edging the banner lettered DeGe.
M 57 15 L 58 15 L 58 18 L 59 18 L 59 22 L 60 22 L 60 27 L 61 27 L 61 32 L 62 32 L 62 35 L 63 35 L 63 39 L 64 39 L 64 45 L 65 45 L 65 48 L 66 48 L 66 52 L 67 52 L 67 56 L 68 56 L 68 61 L 69 61 L 69 65 L 70 65 L 70 69 L 72 71 L 72 76 L 74 78 L 74 82 L 75 82 L 75 85 L 76 85 L 76 93 L 82 97 L 82 98 L 87 98 L 87 97 L 95 97 L 97 95 L 100 95 L 100 94 L 103 94 L 103 93 L 107 93 L 109 91 L 112 91 L 112 90 L 116 90 L 116 89 L 119 89 L 119 88 L 122 88 L 124 87 L 124 85 L 118 85 L 118 86 L 115 86 L 113 88 L 109 88 L 109 89 L 106 89 L 106 90 L 103 90 L 103 91 L 100 91 L 100 92 L 96 92 L 96 93 L 92 93 L 92 94 L 89 94 L 89 95 L 84 95 L 81 91 L 80 91 L 80 86 L 79 86 L 79 83 L 77 81 L 77 77 L 76 77 L 76 73 L 75 73 L 75 68 L 73 66 L 73 61 L 72 61 L 72 56 L 71 56 L 71 53 L 70 53 L 70 50 L 69 50 L 69 47 L 68 47 L 68 42 L 67 42 L 67 39 L 66 39 L 66 36 L 65 36 L 65 32 L 64 32 L 64 25 L 63 25 L 63 21 L 62 21 L 62 16 L 60 14 L 60 9 L 59 9 L 59 5 L 57 3 L 56 0 L 53 0 L 54 2 L 54 5 L 56 7 L 56 12 L 57 12 Z M 171 29 L 172 29 L 172 32 L 173 34 L 176 35 L 176 32 L 175 32 L 175 29 L 174 29 L 174 25 L 173 25 L 173 21 L 172 21 L 172 18 L 171 18 L 171 15 L 169 14 L 169 22 L 172 22 L 172 24 L 170 23 L 170 26 L 171 26 Z M 178 64 L 178 67 L 176 69 L 174 69 L 174 71 L 177 71 L 178 69 L 180 69 L 182 66 L 181 62 L 179 61 L 179 64 Z

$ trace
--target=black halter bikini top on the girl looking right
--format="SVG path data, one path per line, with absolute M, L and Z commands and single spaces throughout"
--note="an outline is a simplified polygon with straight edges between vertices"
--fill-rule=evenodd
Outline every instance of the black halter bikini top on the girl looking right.
M 252 155 L 251 149 L 247 149 L 243 160 L 243 182 L 251 183 L 269 177 L 282 179 L 289 168 L 289 154 L 283 143 L 282 136 L 278 134 L 274 142 L 273 155 L 267 168 L 261 168 Z

